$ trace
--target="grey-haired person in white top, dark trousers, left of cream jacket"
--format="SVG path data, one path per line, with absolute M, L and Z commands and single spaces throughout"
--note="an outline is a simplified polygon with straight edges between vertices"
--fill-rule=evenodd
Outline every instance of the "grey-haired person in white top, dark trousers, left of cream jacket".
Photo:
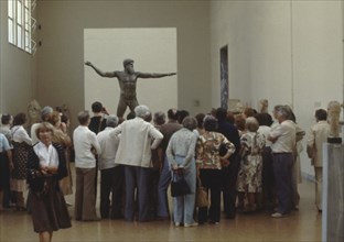
M 106 128 L 97 134 L 100 144 L 101 155 L 98 156 L 100 169 L 100 216 L 103 219 L 119 219 L 121 215 L 122 188 L 125 182 L 123 166 L 115 164 L 115 157 L 119 144 L 118 136 L 110 136 L 118 124 L 118 118 L 108 116 Z M 111 201 L 109 199 L 111 193 Z

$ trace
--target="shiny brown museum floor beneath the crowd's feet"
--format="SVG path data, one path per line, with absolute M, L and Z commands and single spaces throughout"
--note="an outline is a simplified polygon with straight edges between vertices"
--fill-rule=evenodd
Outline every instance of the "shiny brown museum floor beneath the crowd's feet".
M 125 222 L 72 220 L 71 229 L 54 232 L 53 241 L 321 241 L 321 213 L 314 207 L 314 184 L 299 185 L 300 210 L 282 219 L 269 211 L 222 219 L 219 226 L 174 228 L 172 222 Z M 67 200 L 74 200 L 73 195 Z M 99 204 L 99 202 L 98 202 Z M 73 215 L 73 207 L 69 207 Z M 30 215 L 13 210 L 0 212 L 0 241 L 39 241 Z

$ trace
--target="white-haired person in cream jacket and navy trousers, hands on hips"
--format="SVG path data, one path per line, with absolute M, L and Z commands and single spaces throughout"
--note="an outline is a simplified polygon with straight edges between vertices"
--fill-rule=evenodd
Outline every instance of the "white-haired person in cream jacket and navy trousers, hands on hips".
M 118 136 L 120 142 L 116 154 L 116 164 L 125 165 L 126 208 L 125 220 L 133 221 L 138 191 L 138 220 L 152 219 L 149 206 L 149 179 L 152 170 L 151 150 L 157 148 L 163 135 L 144 119 L 150 111 L 147 106 L 135 108 L 136 118 L 122 122 L 109 135 Z

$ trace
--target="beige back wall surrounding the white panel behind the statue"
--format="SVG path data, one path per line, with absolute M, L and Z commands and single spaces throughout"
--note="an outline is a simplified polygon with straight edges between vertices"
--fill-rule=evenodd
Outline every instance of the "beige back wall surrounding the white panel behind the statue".
M 67 103 L 74 117 L 84 109 L 85 29 L 176 28 L 178 108 L 192 113 L 211 108 L 208 2 L 39 1 L 37 12 L 42 25 L 42 46 L 37 53 L 39 100 L 42 102 Z M 116 53 L 110 54 L 116 56 Z M 142 58 L 153 59 L 154 56 Z M 137 64 L 142 62 L 137 61 Z M 120 68 L 117 62 L 109 65 Z M 146 69 L 144 66 L 136 68 Z M 173 69 L 165 66 L 165 70 Z M 200 100 L 200 107 L 195 107 L 195 100 Z M 76 123 L 75 118 L 72 121 Z

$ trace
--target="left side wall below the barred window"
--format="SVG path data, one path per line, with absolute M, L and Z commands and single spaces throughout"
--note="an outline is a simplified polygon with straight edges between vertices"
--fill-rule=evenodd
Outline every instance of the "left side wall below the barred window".
M 26 113 L 35 89 L 36 58 L 8 42 L 8 1 L 0 1 L 0 113 Z

